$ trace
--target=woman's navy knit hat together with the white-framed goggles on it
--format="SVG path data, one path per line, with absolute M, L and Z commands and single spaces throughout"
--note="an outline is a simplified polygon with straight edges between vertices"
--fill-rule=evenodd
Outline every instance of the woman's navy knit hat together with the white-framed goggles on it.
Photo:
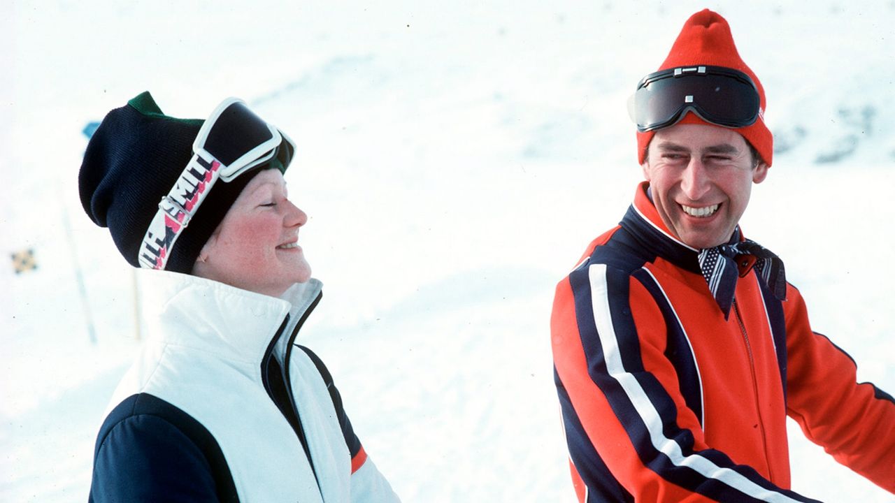
M 91 137 L 81 204 L 132 266 L 189 273 L 245 185 L 264 168 L 285 172 L 294 150 L 237 98 L 202 121 L 165 115 L 143 92 Z

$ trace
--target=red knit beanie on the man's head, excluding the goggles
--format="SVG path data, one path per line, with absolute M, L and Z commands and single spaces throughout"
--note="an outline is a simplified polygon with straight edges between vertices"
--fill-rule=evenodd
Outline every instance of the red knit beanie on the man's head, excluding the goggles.
M 718 13 L 713 13 L 708 9 L 695 13 L 690 16 L 690 19 L 686 20 L 684 29 L 680 30 L 678 39 L 675 40 L 669 56 L 665 58 L 665 62 L 661 64 L 659 70 L 695 64 L 733 68 L 746 73 L 755 82 L 760 98 L 758 120 L 752 125 L 737 128 L 734 131 L 743 135 L 743 138 L 746 138 L 746 141 L 758 150 L 758 155 L 761 156 L 764 163 L 771 166 L 774 139 L 771 131 L 764 125 L 764 107 L 766 104 L 762 82 L 758 81 L 758 77 L 755 77 L 752 70 L 739 57 L 727 20 Z M 678 124 L 709 123 L 703 121 L 699 116 L 688 112 Z M 644 164 L 646 149 L 650 145 L 654 133 L 654 131 L 637 132 L 637 151 L 640 164 Z

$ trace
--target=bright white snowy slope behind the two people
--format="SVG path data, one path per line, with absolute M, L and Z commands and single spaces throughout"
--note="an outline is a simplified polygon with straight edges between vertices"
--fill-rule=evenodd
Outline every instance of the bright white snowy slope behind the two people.
M 859 379 L 895 392 L 891 0 L 13 1 L 0 501 L 87 498 L 98 425 L 139 345 L 139 285 L 81 209 L 81 130 L 143 90 L 179 117 L 244 98 L 298 143 L 286 180 L 325 284 L 301 339 L 406 502 L 572 501 L 553 288 L 630 203 L 626 98 L 704 6 L 729 20 L 776 134 L 746 234 L 786 260 Z M 7 257 L 29 248 L 38 269 L 14 274 Z M 794 490 L 895 501 L 790 433 Z

